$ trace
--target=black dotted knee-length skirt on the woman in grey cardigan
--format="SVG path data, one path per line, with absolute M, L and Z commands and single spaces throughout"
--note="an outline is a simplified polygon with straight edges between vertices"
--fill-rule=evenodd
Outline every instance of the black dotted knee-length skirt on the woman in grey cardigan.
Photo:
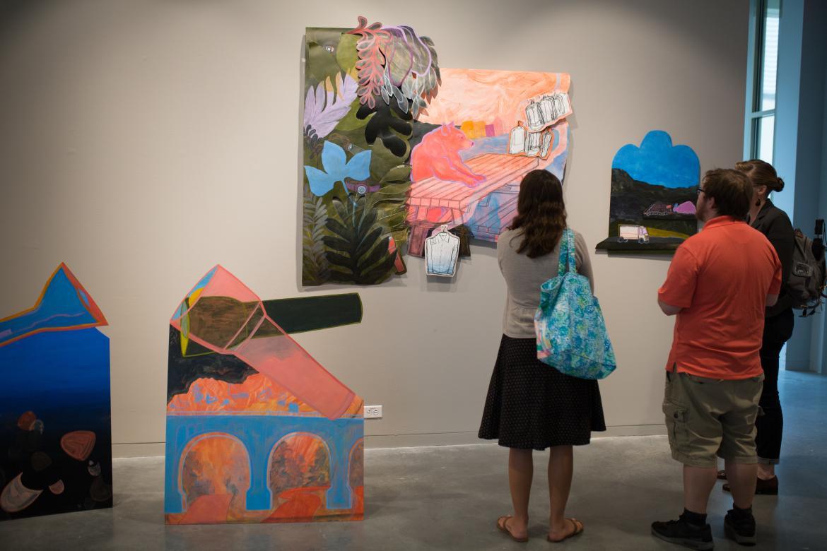
M 480 438 L 546 449 L 589 444 L 606 430 L 597 381 L 563 375 L 537 359 L 534 339 L 503 335 L 480 423 Z

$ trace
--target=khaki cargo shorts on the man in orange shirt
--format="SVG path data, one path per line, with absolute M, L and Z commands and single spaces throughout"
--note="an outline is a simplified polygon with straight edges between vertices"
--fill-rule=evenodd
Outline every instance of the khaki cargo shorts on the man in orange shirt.
M 690 467 L 717 466 L 715 456 L 758 463 L 755 418 L 763 374 L 738 380 L 667 372 L 663 392 L 672 458 Z

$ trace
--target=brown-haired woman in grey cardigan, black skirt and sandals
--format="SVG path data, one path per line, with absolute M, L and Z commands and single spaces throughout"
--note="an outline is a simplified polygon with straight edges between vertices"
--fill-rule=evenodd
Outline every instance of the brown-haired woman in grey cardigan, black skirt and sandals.
M 583 531 L 580 520 L 565 516 L 574 461 L 572 446 L 589 444 L 593 430 L 606 430 L 597 381 L 563 375 L 537 359 L 534 313 L 540 304 L 540 285 L 557 276 L 565 229 L 560 180 L 546 170 L 526 174 L 520 183 L 517 216 L 497 242 L 508 294 L 500 352 L 479 433 L 480 438 L 498 439 L 501 446 L 510 449 L 514 515 L 501 516 L 497 528 L 519 542 L 528 541 L 533 450 L 550 448 L 547 539 L 562 541 Z M 575 247 L 577 272 L 589 278 L 594 292 L 586 242 L 576 232 Z

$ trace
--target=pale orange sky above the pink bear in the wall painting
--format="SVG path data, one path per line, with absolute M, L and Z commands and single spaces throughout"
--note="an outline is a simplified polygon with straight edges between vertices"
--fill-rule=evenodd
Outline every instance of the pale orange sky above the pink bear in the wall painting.
M 440 69 L 442 86 L 428 114 L 418 120 L 431 124 L 484 121 L 494 124 L 500 117 L 505 132 L 525 119 L 529 99 L 554 91 L 568 92 L 571 78 L 566 73 L 495 71 L 488 69 Z

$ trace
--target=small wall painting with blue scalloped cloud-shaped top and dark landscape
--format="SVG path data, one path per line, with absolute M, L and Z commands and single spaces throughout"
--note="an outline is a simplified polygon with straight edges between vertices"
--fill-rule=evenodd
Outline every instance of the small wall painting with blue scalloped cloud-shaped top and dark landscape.
M 609 238 L 597 249 L 671 251 L 697 232 L 700 161 L 664 131 L 621 147 L 612 160 Z

